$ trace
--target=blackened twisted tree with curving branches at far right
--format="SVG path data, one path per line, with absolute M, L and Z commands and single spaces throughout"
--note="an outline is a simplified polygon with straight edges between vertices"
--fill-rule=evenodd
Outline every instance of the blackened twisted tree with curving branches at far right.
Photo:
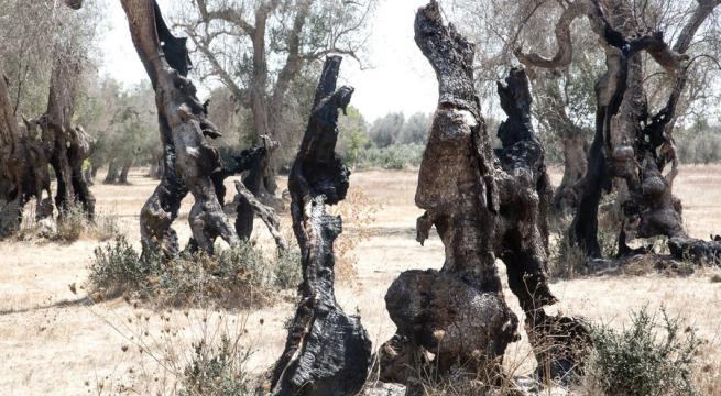
M 607 19 L 598 0 L 577 0 L 561 15 L 557 31 L 567 30 L 573 19 L 587 15 L 607 53 L 608 70 L 596 87 L 596 135 L 588 172 L 582 179 L 580 205 L 570 230 L 571 239 L 590 257 L 601 256 L 598 208 L 603 191 L 611 190 L 614 178 L 623 179 L 629 191 L 622 201 L 623 228 L 631 230 L 621 231 L 621 254 L 638 253 L 625 244 L 626 231 L 631 231 L 642 238 L 668 237 L 671 254 L 679 260 L 688 255 L 711 260 L 721 256 L 719 242 L 699 241 L 687 235 L 682 227 L 681 202 L 673 195 L 674 178 L 678 174 L 673 128 L 690 67 L 686 53 L 703 21 L 720 3 L 719 0 L 699 0 L 673 47 L 664 41 L 663 32 L 634 32 L 629 26 L 631 11 L 627 4 L 613 7 L 613 21 Z M 631 36 L 633 38 L 629 38 Z M 551 59 L 535 54 L 516 54 L 524 64 L 565 67 L 572 51 L 570 35 L 557 34 L 557 40 L 558 51 Z M 651 113 L 644 100 L 640 57 L 644 51 L 675 79 L 666 106 L 655 114 Z M 670 169 L 667 169 L 669 165 Z

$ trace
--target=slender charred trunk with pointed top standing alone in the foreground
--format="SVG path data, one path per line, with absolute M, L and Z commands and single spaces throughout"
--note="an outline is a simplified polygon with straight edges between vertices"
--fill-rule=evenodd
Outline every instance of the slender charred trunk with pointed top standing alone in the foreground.
M 308 128 L 288 178 L 293 230 L 303 264 L 301 301 L 285 350 L 272 370 L 277 396 L 357 394 L 370 366 L 371 342 L 360 318 L 346 315 L 334 292 L 334 241 L 342 220 L 326 205 L 345 199 L 350 170 L 335 154 L 338 109 L 346 110 L 353 89 L 336 89 L 341 57 L 329 56 L 310 112 Z

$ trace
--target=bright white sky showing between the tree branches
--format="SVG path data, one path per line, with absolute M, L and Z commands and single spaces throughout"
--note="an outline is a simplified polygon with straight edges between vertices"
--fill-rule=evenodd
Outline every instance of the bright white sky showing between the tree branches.
M 172 0 L 159 0 L 167 10 Z M 368 64 L 346 58 L 339 85 L 356 88 L 351 105 L 372 121 L 389 112 L 431 112 L 438 88 L 433 68 L 413 41 L 415 11 L 427 0 L 380 0 L 368 42 Z M 119 1 L 107 1 L 108 26 L 103 35 L 100 73 L 123 84 L 148 78 L 135 53 Z M 200 82 L 196 81 L 196 85 Z M 199 86 L 199 94 L 208 86 Z

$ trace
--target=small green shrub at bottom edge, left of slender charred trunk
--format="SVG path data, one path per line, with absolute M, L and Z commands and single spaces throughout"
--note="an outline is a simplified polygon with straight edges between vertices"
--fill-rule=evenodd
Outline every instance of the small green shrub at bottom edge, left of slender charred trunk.
M 252 394 L 245 371 L 250 351 L 221 336 L 220 345 L 212 348 L 201 341 L 195 346 L 193 361 L 181 381 L 181 396 L 241 396 Z

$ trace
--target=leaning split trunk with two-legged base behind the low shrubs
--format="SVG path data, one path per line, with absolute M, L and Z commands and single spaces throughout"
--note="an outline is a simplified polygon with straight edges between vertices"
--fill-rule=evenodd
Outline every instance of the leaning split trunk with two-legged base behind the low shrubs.
M 238 235 L 222 211 L 211 179 L 212 173 L 221 167 L 220 158 L 205 139 L 220 133 L 208 121 L 207 109 L 186 77 L 189 58 L 185 38 L 167 33 L 154 0 L 121 0 L 121 3 L 133 44 L 156 92 L 165 156 L 164 177 L 141 211 L 144 245 L 160 244 L 167 253 L 177 250 L 171 224 L 188 191 L 195 199 L 188 221 L 198 246 L 212 252 L 217 237 L 234 245 Z M 159 32 L 164 32 L 162 44 Z

